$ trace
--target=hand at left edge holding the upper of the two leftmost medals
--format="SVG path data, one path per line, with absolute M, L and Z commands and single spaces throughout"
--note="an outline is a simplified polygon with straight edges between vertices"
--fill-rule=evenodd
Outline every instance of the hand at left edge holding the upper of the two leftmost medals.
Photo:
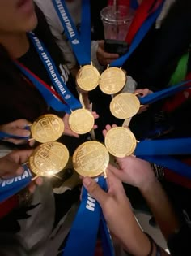
M 18 119 L 8 124 L 0 125 L 0 132 L 5 132 L 7 134 L 13 135 L 15 137 L 5 137 L 2 141 L 8 141 L 14 143 L 15 145 L 28 143 L 28 137 L 30 137 L 31 132 L 26 129 L 30 123 L 26 119 Z M 18 138 L 16 138 L 18 137 Z M 19 138 L 26 137 L 26 139 Z M 29 145 L 33 145 L 34 141 L 30 141 Z

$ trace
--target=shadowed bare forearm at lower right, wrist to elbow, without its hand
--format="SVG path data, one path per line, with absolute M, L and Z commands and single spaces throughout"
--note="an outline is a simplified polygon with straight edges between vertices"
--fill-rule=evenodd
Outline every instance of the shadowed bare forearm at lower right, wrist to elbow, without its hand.
M 157 179 L 152 180 L 149 184 L 142 186 L 140 191 L 145 197 L 146 202 L 155 216 L 159 228 L 163 232 L 163 236 L 168 236 L 180 228 L 180 222 L 176 217 L 171 202 L 168 200 L 163 187 Z

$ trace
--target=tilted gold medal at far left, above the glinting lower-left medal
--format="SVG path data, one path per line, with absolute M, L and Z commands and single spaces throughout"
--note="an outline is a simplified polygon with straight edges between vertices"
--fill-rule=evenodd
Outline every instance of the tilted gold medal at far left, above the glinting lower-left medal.
M 40 143 L 57 141 L 64 132 L 64 122 L 57 115 L 41 115 L 31 127 L 32 138 Z

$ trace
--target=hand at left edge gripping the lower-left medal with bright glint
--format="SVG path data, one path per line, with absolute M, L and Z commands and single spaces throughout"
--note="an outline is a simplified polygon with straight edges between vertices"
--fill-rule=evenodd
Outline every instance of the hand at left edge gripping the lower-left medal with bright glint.
M 0 178 L 9 179 L 15 176 L 21 176 L 24 172 L 22 163 L 28 161 L 32 150 L 16 150 L 0 158 Z M 28 185 L 31 193 L 34 192 L 36 185 L 42 184 L 42 178 L 38 177 L 34 182 Z

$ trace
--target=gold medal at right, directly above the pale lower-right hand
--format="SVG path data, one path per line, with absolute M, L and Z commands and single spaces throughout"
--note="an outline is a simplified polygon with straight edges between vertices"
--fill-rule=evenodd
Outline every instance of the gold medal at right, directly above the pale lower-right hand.
M 134 153 L 137 142 L 134 134 L 124 127 L 112 128 L 104 138 L 108 152 L 117 158 L 124 158 Z

